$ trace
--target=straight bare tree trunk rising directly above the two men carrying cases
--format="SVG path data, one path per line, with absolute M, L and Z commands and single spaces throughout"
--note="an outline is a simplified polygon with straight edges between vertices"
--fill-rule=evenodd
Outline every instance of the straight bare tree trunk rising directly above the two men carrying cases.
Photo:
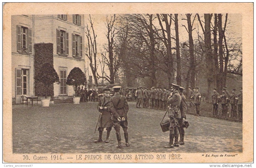
M 175 16 L 175 37 L 176 37 L 176 58 L 177 58 L 177 76 L 176 81 L 177 85 L 181 86 L 181 60 L 180 60 L 180 51 L 179 51 L 179 26 L 178 26 L 178 14 L 174 14 Z

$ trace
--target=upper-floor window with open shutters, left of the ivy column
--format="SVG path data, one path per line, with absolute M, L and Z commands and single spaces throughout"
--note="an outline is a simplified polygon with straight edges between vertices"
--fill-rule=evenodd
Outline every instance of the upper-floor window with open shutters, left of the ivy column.
M 32 53 L 32 29 L 17 25 L 17 51 Z

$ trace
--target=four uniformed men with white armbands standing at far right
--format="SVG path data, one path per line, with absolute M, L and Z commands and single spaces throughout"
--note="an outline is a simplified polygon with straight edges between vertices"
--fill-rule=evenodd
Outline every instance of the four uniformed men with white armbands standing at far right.
M 243 88 L 240 87 L 240 93 L 236 94 L 236 89 L 231 89 L 231 94 L 227 91 L 227 87 L 222 88 L 221 95 L 216 91 L 216 88 L 213 88 L 212 94 L 212 105 L 213 112 L 212 115 L 214 117 L 218 116 L 218 104 L 221 104 L 222 112 L 221 117 L 226 118 L 234 118 L 234 119 L 242 119 L 243 117 Z M 231 112 L 228 114 L 229 104 L 231 105 Z

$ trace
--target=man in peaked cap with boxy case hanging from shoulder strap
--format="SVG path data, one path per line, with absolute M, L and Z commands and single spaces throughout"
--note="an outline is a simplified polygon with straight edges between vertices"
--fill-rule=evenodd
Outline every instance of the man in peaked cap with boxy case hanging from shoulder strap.
M 181 118 L 179 106 L 181 102 L 181 96 L 178 92 L 179 87 L 178 85 L 172 84 L 173 93 L 171 96 L 168 97 L 167 103 L 169 105 L 168 109 L 168 116 L 170 118 L 170 135 L 169 135 L 169 143 L 165 148 L 173 148 L 174 146 L 178 147 L 178 139 L 175 138 L 175 143 L 173 144 L 174 136 L 178 137 L 178 120 Z

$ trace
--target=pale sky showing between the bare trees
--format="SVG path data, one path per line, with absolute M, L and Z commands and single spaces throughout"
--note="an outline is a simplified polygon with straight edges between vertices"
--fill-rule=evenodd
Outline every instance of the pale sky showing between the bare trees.
M 226 14 L 223 14 L 223 16 L 222 16 L 222 25 L 223 26 L 224 26 L 224 22 L 225 22 L 225 15 Z M 193 21 L 194 16 L 195 16 L 195 14 L 192 14 L 191 22 Z M 199 16 L 201 17 L 201 21 L 203 22 L 204 21 L 204 17 L 203 17 L 204 14 L 199 14 Z M 98 54 L 100 54 L 100 52 L 103 51 L 103 45 L 107 44 L 107 42 L 108 42 L 108 40 L 106 38 L 107 28 L 106 28 L 106 25 L 105 25 L 106 15 L 101 15 L 101 14 L 100 15 L 99 14 L 93 15 L 92 14 L 91 18 L 93 20 L 93 27 L 94 27 L 95 34 L 97 35 L 97 38 L 96 38 L 96 40 L 97 40 L 97 52 L 98 52 Z M 188 32 L 186 31 L 185 27 L 183 26 L 183 25 L 185 25 L 187 27 L 187 20 L 184 20 L 184 18 L 186 18 L 185 14 L 179 14 L 178 15 L 180 43 L 182 43 L 184 41 L 188 41 Z M 85 27 L 87 26 L 87 24 L 90 26 L 90 23 L 89 23 L 88 19 L 89 19 L 89 15 L 84 15 L 84 25 L 85 25 Z M 214 22 L 214 19 L 212 18 L 212 23 L 213 22 Z M 157 18 L 154 20 L 153 24 L 156 25 L 156 26 L 159 26 L 159 22 L 158 22 Z M 202 24 L 204 26 L 204 23 L 202 23 Z M 172 34 L 173 34 L 173 36 L 175 36 L 174 22 L 172 23 L 171 28 L 173 29 Z M 200 26 L 200 24 L 197 20 L 197 17 L 196 17 L 196 20 L 193 24 L 193 28 L 195 28 L 195 30 L 193 30 L 193 39 L 195 40 L 195 39 L 198 38 L 197 37 L 197 31 L 201 34 L 201 36 L 203 38 L 202 29 L 201 29 L 201 26 Z M 86 31 L 86 28 L 85 28 L 85 31 Z M 242 39 L 242 15 L 241 14 L 228 14 L 228 24 L 227 24 L 225 35 L 229 38 L 234 39 L 234 42 L 238 42 L 239 39 Z M 85 36 L 85 38 L 86 38 L 86 36 Z M 85 44 L 87 46 L 87 39 L 85 39 Z M 86 66 L 88 65 L 87 62 L 88 62 L 88 59 L 86 57 Z M 105 71 L 108 73 L 107 67 L 105 68 Z M 88 72 L 89 72 L 89 75 L 92 75 L 90 67 L 88 68 Z M 87 72 L 87 75 L 88 75 L 88 72 Z M 98 72 L 100 72 L 100 67 L 98 69 Z

